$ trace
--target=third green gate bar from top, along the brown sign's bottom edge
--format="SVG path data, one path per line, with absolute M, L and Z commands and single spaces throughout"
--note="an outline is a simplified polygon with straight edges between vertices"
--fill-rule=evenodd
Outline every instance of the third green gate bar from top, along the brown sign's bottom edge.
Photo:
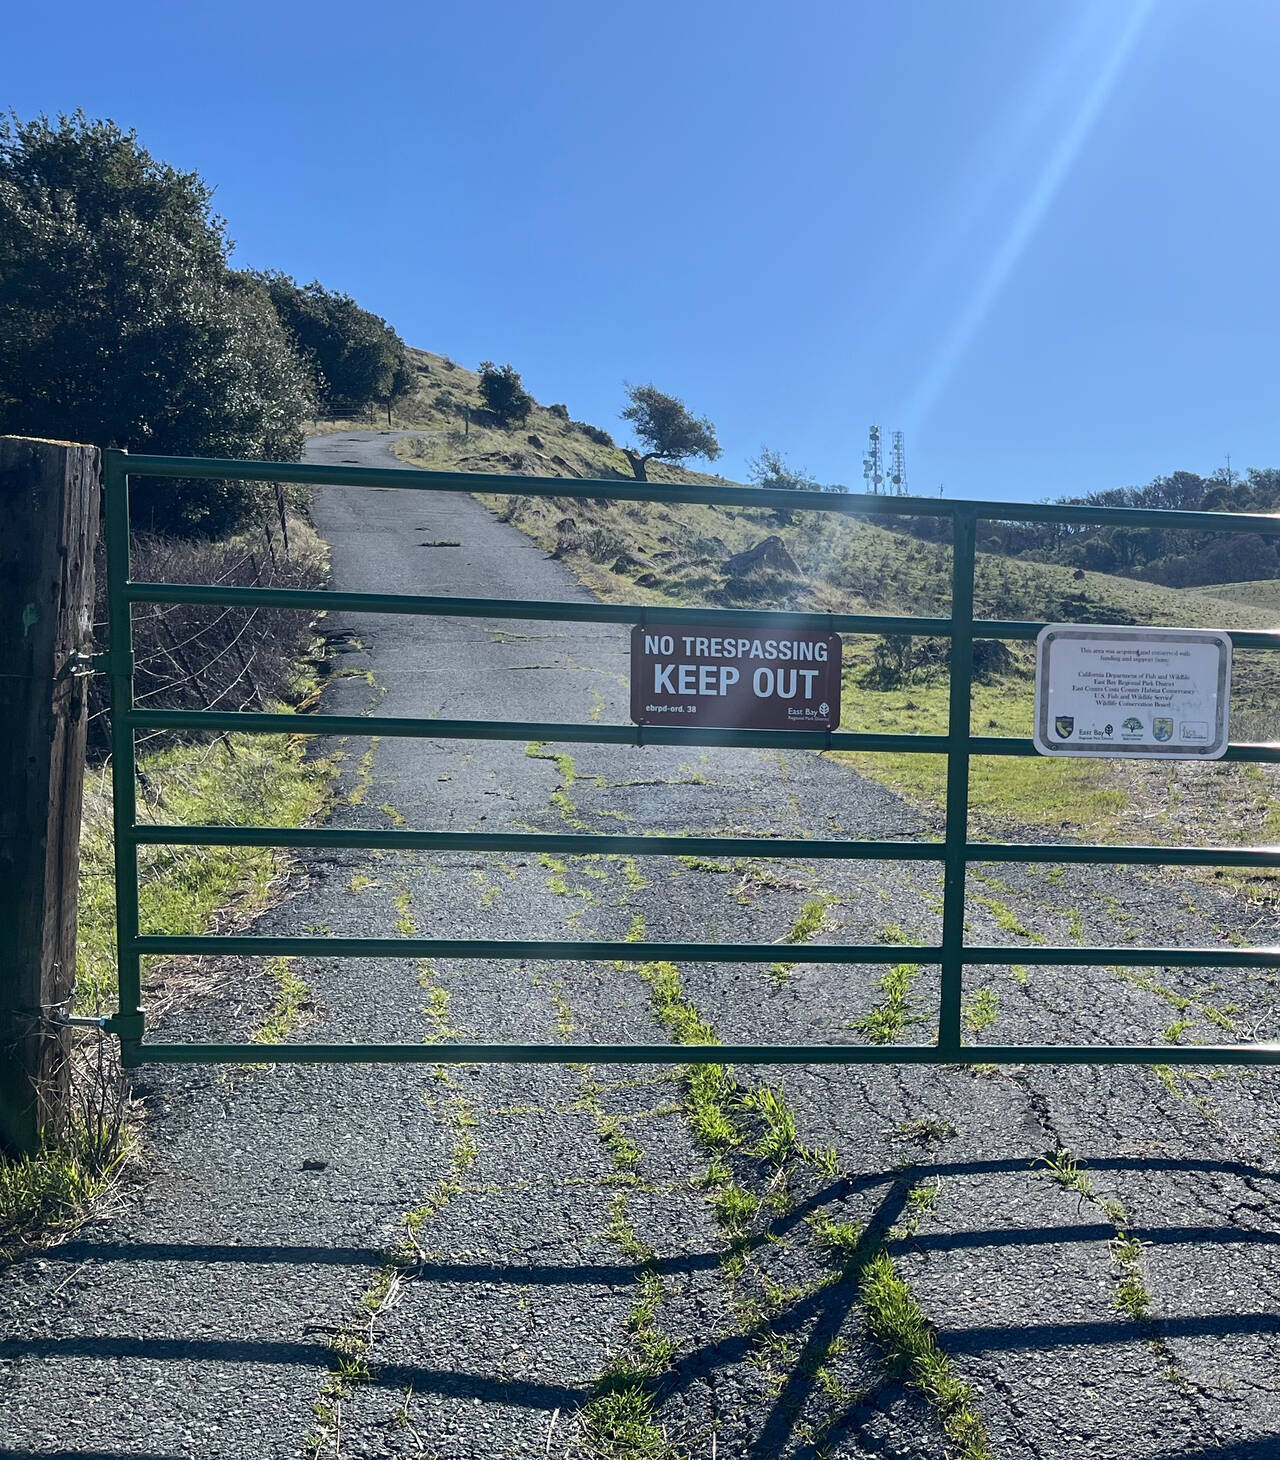
M 222 734 L 358 734 L 419 740 L 555 740 L 577 745 L 725 745 L 798 750 L 946 755 L 944 734 L 864 734 L 832 730 L 689 730 L 683 726 L 600 726 L 534 720 L 413 720 L 391 715 L 296 715 L 257 710 L 133 710 L 134 730 L 217 730 Z M 971 736 L 971 755 L 1036 755 L 1020 736 Z M 1280 761 L 1280 742 L 1227 746 L 1225 761 Z

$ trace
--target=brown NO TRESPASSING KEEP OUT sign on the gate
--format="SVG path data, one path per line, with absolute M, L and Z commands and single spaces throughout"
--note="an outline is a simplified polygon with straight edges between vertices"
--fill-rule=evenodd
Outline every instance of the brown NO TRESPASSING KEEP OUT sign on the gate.
M 631 718 L 639 726 L 833 730 L 841 723 L 839 634 L 635 628 Z

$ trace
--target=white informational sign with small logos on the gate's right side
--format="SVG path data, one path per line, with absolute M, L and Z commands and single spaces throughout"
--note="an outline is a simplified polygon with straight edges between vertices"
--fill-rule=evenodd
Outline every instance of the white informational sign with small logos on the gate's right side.
M 1230 638 L 1217 629 L 1049 623 L 1036 639 L 1041 755 L 1216 761 L 1229 710 Z

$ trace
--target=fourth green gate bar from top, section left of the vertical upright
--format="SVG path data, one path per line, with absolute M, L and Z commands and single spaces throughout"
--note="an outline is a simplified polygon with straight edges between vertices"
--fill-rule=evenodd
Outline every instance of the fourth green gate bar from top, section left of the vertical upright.
M 295 826 L 137 828 L 161 847 L 369 847 L 385 851 L 559 851 L 577 857 L 833 857 L 849 861 L 938 861 L 937 841 L 807 841 L 803 837 L 625 837 L 521 831 L 339 831 Z M 1280 853 L 1277 853 L 1280 861 Z

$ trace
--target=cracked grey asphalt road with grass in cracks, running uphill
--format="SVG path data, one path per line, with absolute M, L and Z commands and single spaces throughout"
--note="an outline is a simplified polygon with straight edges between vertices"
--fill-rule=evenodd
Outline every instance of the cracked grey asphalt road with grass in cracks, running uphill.
M 388 454 L 381 434 L 356 432 L 312 441 L 309 458 Z M 466 496 L 333 489 L 315 515 L 343 588 L 585 596 Z M 330 626 L 349 635 L 330 711 L 626 720 L 623 629 Z M 931 834 L 807 752 L 337 749 L 333 825 Z M 825 939 L 930 942 L 940 914 L 937 869 L 919 863 L 343 853 L 305 872 L 257 931 L 766 940 L 820 898 Z M 1121 869 L 978 867 L 969 924 L 1028 946 L 1276 937 L 1203 883 Z M 803 945 L 782 959 L 683 965 L 683 994 L 725 1041 L 865 1037 L 883 968 L 804 964 Z M 295 1038 L 667 1038 L 629 965 L 295 967 L 315 1002 Z M 971 1038 L 1001 1042 L 1159 1040 L 1179 1019 L 1184 1038 L 1220 1038 L 1222 1019 L 1274 1037 L 1280 1022 L 1271 972 L 971 971 L 969 999 L 984 986 Z M 242 1037 L 271 994 L 264 969 L 235 961 L 165 1032 Z M 906 1038 L 936 1000 L 937 971 L 909 971 Z M 836 1159 L 794 1177 L 790 1210 L 757 1223 L 737 1276 L 673 1070 L 140 1073 L 146 1187 L 0 1275 L 0 1454 L 286 1457 L 309 1437 L 318 1454 L 579 1456 L 584 1406 L 635 1333 L 645 1273 L 673 1345 L 657 1388 L 673 1445 L 711 1456 L 714 1434 L 718 1456 L 744 1460 L 947 1454 L 937 1413 L 868 1337 L 857 1283 L 816 1245 L 820 1216 L 883 1238 L 998 1460 L 1280 1456 L 1280 1113 L 1265 1073 L 740 1069 L 743 1088 L 784 1086 L 801 1142 Z M 1063 1149 L 1079 1169 L 1060 1162 L 1055 1177 L 1045 1158 Z M 406 1242 L 413 1260 L 382 1292 Z M 1118 1305 L 1127 1273 L 1140 1311 Z M 368 1375 L 342 1383 L 334 1340 L 368 1318 L 371 1292 Z

